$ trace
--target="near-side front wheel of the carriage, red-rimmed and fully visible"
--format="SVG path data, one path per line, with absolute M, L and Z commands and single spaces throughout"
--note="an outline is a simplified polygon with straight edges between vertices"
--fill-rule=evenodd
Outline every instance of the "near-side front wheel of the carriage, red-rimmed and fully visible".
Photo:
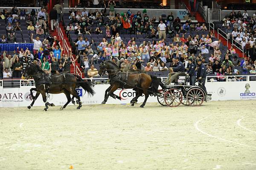
M 181 104 L 182 94 L 178 89 L 169 89 L 164 94 L 164 101 L 169 107 L 177 107 Z

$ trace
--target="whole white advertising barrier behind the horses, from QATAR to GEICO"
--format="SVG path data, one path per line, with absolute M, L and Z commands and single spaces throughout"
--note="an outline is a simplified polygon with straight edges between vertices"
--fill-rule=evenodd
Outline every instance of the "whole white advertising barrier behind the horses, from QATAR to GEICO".
M 89 96 L 84 89 L 77 89 L 81 102 L 83 104 L 101 104 L 104 100 L 105 89 L 109 84 L 99 84 L 93 87 L 95 95 Z M 32 102 L 30 89 L 34 86 L 22 86 L 20 88 L 2 88 L 0 87 L 0 107 L 26 107 Z M 225 100 L 248 100 L 256 99 L 256 82 L 240 81 L 240 82 L 207 82 L 207 92 L 212 94 L 212 101 Z M 35 95 L 35 92 L 33 93 Z M 114 94 L 120 96 L 122 100 L 108 98 L 107 104 L 129 104 L 136 93 L 132 89 L 119 89 Z M 138 98 L 138 103 L 144 101 L 144 95 Z M 76 99 L 75 99 L 76 100 Z M 47 101 L 56 106 L 63 106 L 67 102 L 64 94 L 48 94 Z M 149 96 L 147 102 L 157 102 L 157 98 Z M 70 103 L 70 105 L 72 105 Z M 34 106 L 44 106 L 42 96 L 40 95 L 35 101 Z

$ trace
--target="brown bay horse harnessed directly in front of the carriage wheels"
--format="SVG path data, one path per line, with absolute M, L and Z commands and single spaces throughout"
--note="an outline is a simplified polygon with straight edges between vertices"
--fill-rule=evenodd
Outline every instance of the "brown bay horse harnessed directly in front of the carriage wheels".
M 121 72 L 116 63 L 112 61 L 105 61 L 99 66 L 99 75 L 103 75 L 108 72 L 111 86 L 106 90 L 104 101 L 105 104 L 108 101 L 108 97 L 119 98 L 119 96 L 113 94 L 116 89 L 134 89 L 136 91 L 136 96 L 131 100 L 131 106 L 137 99 L 144 93 L 145 100 L 140 107 L 144 107 L 149 95 L 157 95 L 158 86 L 160 85 L 160 79 L 154 75 L 148 75 L 145 73 L 136 72 Z

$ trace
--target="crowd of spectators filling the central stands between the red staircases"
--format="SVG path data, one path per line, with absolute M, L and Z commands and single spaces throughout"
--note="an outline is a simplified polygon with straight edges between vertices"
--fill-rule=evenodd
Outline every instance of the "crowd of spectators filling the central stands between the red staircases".
M 205 23 L 194 24 L 188 19 L 182 24 L 178 17 L 174 18 L 172 12 L 167 16 L 167 20 L 159 17 L 156 22 L 156 18 L 148 17 L 146 12 L 143 14 L 137 12 L 134 15 L 128 10 L 122 14 L 113 12 L 105 14 L 104 10 L 100 12 L 96 9 L 93 12 L 86 9 L 81 11 L 70 9 L 70 23 L 67 24 L 66 31 L 67 33 L 74 31 L 78 36 L 75 44 L 78 46 L 79 62 L 85 75 L 88 75 L 90 64 L 99 64 L 107 60 L 115 62 L 125 71 L 169 70 L 170 67 L 176 66 L 175 58 L 180 58 L 186 68 L 189 58 L 202 59 L 207 66 L 208 75 L 254 73 L 250 71 L 255 67 L 254 61 L 248 60 L 250 67 L 246 66 L 244 61 L 247 58 L 241 61 L 239 56 L 235 55 L 236 50 L 233 46 L 225 49 L 221 40 L 216 40 L 214 33 L 208 31 Z M 84 35 L 103 35 L 103 38 L 101 42 L 95 43 L 95 39 L 89 41 Z M 125 35 L 134 35 L 134 37 L 127 41 Z M 138 44 L 137 40 L 141 38 L 144 41 Z M 146 38 L 149 38 L 149 41 L 145 41 Z M 88 58 L 89 55 L 91 57 Z M 123 66 L 122 63 L 126 62 L 129 64 Z M 221 81 L 219 78 L 217 80 Z M 229 81 L 236 80 L 229 79 Z

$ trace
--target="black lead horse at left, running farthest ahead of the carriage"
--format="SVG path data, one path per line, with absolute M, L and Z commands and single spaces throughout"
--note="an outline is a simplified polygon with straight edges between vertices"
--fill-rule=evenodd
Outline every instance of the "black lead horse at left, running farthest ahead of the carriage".
M 81 86 L 90 95 L 95 94 L 91 85 L 88 84 L 86 81 L 84 81 L 80 76 L 73 75 L 67 72 L 62 74 L 52 75 L 51 84 L 48 84 L 49 82 L 46 82 L 44 80 L 47 80 L 49 75 L 46 74 L 41 69 L 41 67 L 39 67 L 37 64 L 34 64 L 34 63 L 30 63 L 29 66 L 26 67 L 26 69 L 24 70 L 24 75 L 26 78 L 28 77 L 34 78 L 37 94 L 38 95 L 41 94 L 43 97 L 43 101 L 45 103 L 45 108 L 44 108 L 45 111 L 47 111 L 48 109 L 47 98 L 46 98 L 47 91 L 51 94 L 64 93 L 66 95 L 67 103 L 63 107 L 61 107 L 61 109 L 64 109 L 67 106 L 67 104 L 70 103 L 71 101 L 70 95 L 73 95 L 73 97 L 78 99 L 79 106 L 77 107 L 77 109 L 80 109 L 82 107 L 80 97 L 76 92 L 76 86 Z M 33 102 L 35 101 L 33 100 Z

